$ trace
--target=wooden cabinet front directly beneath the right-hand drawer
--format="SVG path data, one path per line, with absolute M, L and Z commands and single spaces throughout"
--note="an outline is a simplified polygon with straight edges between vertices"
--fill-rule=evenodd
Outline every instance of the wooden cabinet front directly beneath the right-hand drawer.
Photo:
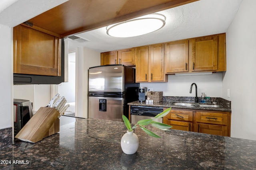
M 199 133 L 207 133 L 212 135 L 228 136 L 228 127 L 223 125 L 209 125 L 197 123 Z

